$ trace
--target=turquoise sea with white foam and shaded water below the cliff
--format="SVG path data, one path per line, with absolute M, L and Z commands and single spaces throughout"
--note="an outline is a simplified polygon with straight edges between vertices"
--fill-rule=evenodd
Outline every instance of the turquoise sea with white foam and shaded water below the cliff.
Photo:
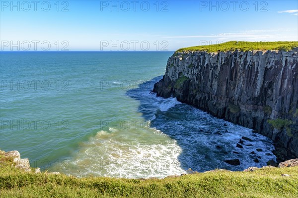
M 268 138 L 150 92 L 172 53 L 1 52 L 0 148 L 78 177 L 243 170 L 276 159 Z M 236 148 L 242 136 L 252 142 Z M 223 162 L 234 158 L 239 166 Z

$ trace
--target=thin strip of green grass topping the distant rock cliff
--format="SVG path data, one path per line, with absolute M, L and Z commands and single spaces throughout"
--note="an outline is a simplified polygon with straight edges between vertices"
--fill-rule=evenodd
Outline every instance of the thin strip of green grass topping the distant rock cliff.
M 298 42 L 293 41 L 278 41 L 278 42 L 245 42 L 245 41 L 229 41 L 223 44 L 208 45 L 208 46 L 194 46 L 189 48 L 181 48 L 175 52 L 182 51 L 235 51 L 236 49 L 241 51 L 249 50 L 284 50 L 288 51 L 298 47 Z

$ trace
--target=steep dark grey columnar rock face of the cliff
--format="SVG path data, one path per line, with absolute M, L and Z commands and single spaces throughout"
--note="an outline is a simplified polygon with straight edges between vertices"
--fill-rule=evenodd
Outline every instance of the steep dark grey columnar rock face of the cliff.
M 153 92 L 254 129 L 298 156 L 298 48 L 175 52 Z

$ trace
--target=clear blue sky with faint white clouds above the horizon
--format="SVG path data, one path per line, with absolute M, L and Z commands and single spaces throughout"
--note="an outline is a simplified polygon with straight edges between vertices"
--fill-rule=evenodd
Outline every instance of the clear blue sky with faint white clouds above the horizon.
M 297 0 L 0 0 L 1 51 L 298 41 Z

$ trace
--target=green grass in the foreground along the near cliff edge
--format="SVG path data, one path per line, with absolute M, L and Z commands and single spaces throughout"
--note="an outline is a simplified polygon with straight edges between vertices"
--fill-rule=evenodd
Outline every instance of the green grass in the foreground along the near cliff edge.
M 3 158 L 1 158 L 3 161 Z M 298 167 L 254 172 L 197 173 L 165 179 L 75 178 L 25 173 L 4 160 L 0 165 L 1 198 L 297 198 Z M 282 177 L 289 174 L 291 177 Z

